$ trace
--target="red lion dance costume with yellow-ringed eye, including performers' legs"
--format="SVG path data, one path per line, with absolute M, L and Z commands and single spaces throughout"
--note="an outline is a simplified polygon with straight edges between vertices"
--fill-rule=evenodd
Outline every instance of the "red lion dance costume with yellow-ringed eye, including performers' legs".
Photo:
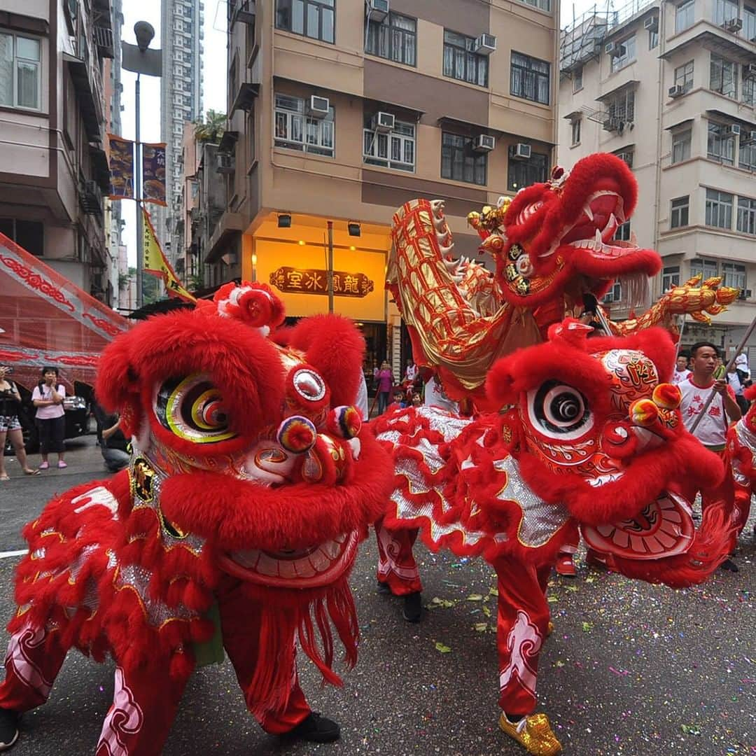
M 97 395 L 133 434 L 132 460 L 26 526 L 6 720 L 45 702 L 75 646 L 116 661 L 98 756 L 159 754 L 188 677 L 222 643 L 268 733 L 338 736 L 299 688 L 295 640 L 339 683 L 333 622 L 355 662 L 347 578 L 390 463 L 352 407 L 355 327 L 309 318 L 283 347 L 266 337 L 281 321 L 268 287 L 231 284 L 106 349 Z

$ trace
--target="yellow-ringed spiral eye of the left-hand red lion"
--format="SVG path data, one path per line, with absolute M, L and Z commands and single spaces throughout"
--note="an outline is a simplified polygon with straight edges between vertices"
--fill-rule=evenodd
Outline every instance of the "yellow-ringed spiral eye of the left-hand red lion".
M 167 380 L 155 397 L 155 416 L 178 438 L 195 444 L 226 441 L 236 435 L 228 427 L 221 392 L 207 376 Z

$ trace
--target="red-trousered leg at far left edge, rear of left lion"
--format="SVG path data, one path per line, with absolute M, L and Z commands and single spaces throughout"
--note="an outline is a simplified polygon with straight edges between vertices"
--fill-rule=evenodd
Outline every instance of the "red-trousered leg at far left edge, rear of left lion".
M 5 682 L 0 685 L 0 708 L 29 711 L 47 701 L 66 658 L 57 631 L 26 625 L 11 636 L 5 656 Z

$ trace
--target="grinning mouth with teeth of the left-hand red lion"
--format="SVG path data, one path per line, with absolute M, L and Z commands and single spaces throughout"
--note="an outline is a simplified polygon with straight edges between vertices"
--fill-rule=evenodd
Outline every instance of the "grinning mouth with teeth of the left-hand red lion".
M 244 581 L 281 588 L 312 588 L 333 583 L 354 562 L 358 531 L 306 549 L 247 549 L 225 553 L 221 569 Z

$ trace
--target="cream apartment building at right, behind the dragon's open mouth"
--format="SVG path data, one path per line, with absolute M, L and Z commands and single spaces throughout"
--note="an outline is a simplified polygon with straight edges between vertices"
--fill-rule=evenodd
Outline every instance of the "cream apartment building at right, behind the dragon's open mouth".
M 662 255 L 655 296 L 697 273 L 742 290 L 714 326 L 688 321 L 683 343 L 739 342 L 756 315 L 756 3 L 590 12 L 562 33 L 559 68 L 559 162 L 621 156 L 640 203 L 618 236 Z M 627 314 L 620 285 L 608 299 Z

